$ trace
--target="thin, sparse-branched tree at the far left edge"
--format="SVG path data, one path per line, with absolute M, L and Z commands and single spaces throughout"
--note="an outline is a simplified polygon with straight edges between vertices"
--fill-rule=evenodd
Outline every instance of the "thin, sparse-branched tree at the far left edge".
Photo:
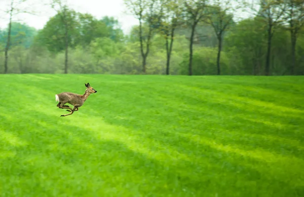
M 30 5 L 27 4 L 27 0 L 11 0 L 8 10 L 5 11 L 9 15 L 9 25 L 7 31 L 7 42 L 5 46 L 5 60 L 4 60 L 4 73 L 8 73 L 8 60 L 9 60 L 9 49 L 11 43 L 11 31 L 12 31 L 12 22 L 14 17 L 21 13 L 34 14 L 33 11 L 30 11 Z

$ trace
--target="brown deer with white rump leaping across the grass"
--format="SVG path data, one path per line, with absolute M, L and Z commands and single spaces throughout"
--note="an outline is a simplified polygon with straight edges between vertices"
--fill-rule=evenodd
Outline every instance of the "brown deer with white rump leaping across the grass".
M 83 95 L 72 92 L 61 92 L 55 95 L 56 101 L 59 102 L 57 104 L 57 107 L 61 109 L 69 109 L 66 111 L 70 112 L 69 114 L 61 115 L 61 116 L 72 115 L 75 111 L 78 111 L 79 107 L 84 105 L 85 101 L 87 100 L 88 96 L 91 93 L 97 92 L 93 87 L 91 87 L 90 83 L 87 84 L 85 83 L 85 85 L 87 89 Z M 73 105 L 74 106 L 73 109 L 67 105 L 65 106 L 64 104 L 66 103 Z

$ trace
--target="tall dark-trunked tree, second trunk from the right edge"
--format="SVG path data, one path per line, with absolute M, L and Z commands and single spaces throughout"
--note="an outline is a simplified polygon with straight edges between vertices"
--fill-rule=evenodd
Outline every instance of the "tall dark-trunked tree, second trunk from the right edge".
M 252 3 L 248 3 L 252 1 Z M 245 0 L 248 11 L 256 16 L 267 26 L 267 55 L 265 63 L 265 75 L 270 75 L 271 44 L 274 31 L 283 23 L 283 14 L 286 10 L 285 0 Z M 259 9 L 257 9 L 259 7 Z

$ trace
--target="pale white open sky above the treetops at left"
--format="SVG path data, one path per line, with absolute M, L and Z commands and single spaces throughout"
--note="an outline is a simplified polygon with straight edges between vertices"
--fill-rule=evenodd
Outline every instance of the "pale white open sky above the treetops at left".
M 19 2 L 20 0 L 14 0 Z M 50 7 L 42 5 L 50 0 L 27 0 L 26 3 L 20 5 L 20 8 L 27 10 L 34 10 L 37 15 L 19 14 L 15 16 L 19 22 L 26 23 L 27 25 L 36 29 L 42 29 L 50 17 L 54 16 L 56 12 Z M 126 13 L 124 0 L 66 0 L 70 8 L 81 13 L 90 13 L 97 19 L 103 16 L 113 16 L 121 24 L 125 33 L 129 33 L 133 25 L 138 24 L 138 20 L 132 15 Z M 8 25 L 8 15 L 3 15 L 5 10 L 9 9 L 11 0 L 0 0 L 0 28 L 6 28 Z

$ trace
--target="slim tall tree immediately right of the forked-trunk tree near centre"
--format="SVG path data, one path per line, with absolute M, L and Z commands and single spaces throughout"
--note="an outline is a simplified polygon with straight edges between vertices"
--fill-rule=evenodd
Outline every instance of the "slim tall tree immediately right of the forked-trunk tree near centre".
M 182 0 L 167 0 L 164 5 L 164 15 L 161 22 L 161 33 L 165 35 L 166 40 L 166 74 L 170 73 L 170 57 L 172 53 L 173 41 L 174 41 L 174 32 L 175 29 L 183 24 L 183 10 L 181 8 Z M 169 44 L 170 38 L 170 44 Z

